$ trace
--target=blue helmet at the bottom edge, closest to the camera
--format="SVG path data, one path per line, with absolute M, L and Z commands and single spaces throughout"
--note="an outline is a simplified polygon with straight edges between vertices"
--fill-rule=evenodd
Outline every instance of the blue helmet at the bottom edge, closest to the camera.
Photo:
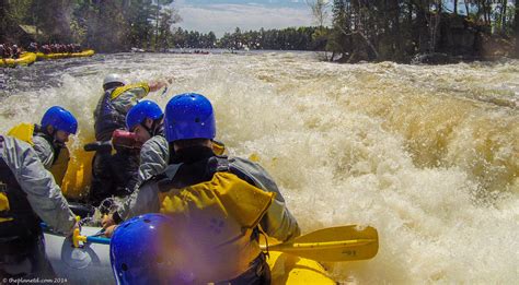
M 120 224 L 109 242 L 117 284 L 175 284 L 171 217 L 145 214 Z

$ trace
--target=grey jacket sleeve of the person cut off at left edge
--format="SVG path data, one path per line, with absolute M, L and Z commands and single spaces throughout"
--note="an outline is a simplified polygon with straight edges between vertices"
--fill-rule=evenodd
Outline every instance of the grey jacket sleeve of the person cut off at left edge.
M 68 234 L 76 223 L 74 215 L 31 145 L 4 136 L 1 153 L 36 215 L 55 230 Z

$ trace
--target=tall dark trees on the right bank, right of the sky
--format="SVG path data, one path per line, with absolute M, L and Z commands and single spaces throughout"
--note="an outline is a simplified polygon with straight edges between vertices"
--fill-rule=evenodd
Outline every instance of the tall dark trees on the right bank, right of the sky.
M 327 1 L 308 2 L 318 22 L 330 11 Z M 512 0 L 334 0 L 326 50 L 344 62 L 511 56 L 518 11 Z

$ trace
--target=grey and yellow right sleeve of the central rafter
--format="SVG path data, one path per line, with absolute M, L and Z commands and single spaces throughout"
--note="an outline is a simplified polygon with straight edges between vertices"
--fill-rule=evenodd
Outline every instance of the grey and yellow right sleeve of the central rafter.
M 268 236 L 280 241 L 286 241 L 300 236 L 301 229 L 299 228 L 298 222 L 290 211 L 288 211 L 281 192 L 279 192 L 276 182 L 268 173 L 258 164 L 247 159 L 234 157 L 231 158 L 230 162 L 231 168 L 238 169 L 250 177 L 254 180 L 257 188 L 276 194 L 273 203 L 267 210 L 267 213 L 260 222 L 262 229 Z

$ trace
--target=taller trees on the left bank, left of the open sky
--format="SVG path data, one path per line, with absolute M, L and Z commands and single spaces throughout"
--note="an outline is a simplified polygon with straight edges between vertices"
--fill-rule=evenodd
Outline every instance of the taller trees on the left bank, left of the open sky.
M 78 43 L 97 51 L 168 47 L 173 0 L 3 0 L 0 43 Z M 27 28 L 28 27 L 28 28 Z M 27 32 L 27 29 L 30 29 Z M 27 36 L 27 33 L 31 36 Z

